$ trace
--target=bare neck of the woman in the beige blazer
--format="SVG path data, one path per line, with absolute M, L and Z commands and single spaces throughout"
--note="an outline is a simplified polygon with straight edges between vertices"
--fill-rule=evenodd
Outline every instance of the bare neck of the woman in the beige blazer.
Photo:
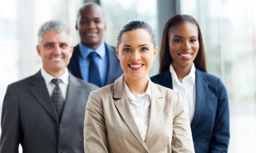
M 141 79 L 131 79 L 124 74 L 124 81 L 128 86 L 130 92 L 137 98 L 137 94 L 142 94 L 146 92 L 147 85 L 148 85 L 148 76 Z

